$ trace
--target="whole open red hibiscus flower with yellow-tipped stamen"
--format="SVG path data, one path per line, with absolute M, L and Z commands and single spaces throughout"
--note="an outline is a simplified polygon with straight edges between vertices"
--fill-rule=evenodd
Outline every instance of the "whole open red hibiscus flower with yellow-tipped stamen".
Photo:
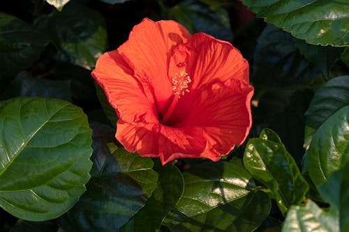
M 144 19 L 92 76 L 117 111 L 120 143 L 162 164 L 219 160 L 251 128 L 247 61 L 229 42 L 174 21 Z

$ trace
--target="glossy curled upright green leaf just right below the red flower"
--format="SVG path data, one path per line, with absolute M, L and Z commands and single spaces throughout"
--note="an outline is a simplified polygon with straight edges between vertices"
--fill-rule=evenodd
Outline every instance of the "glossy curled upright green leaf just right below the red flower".
M 247 142 L 244 165 L 253 178 L 269 188 L 281 212 L 304 200 L 309 185 L 278 135 L 264 129 Z

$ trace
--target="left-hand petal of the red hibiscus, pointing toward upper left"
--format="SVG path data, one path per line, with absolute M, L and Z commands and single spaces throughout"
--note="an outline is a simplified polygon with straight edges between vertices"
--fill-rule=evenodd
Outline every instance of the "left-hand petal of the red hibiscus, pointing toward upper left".
M 158 121 L 154 102 L 146 98 L 142 86 L 133 77 L 133 70 L 117 50 L 103 54 L 91 75 L 104 89 L 110 105 L 123 121 Z

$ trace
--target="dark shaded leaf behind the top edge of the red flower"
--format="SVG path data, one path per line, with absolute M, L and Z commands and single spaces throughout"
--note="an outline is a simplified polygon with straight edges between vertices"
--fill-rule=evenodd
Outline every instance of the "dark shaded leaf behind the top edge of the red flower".
M 191 33 L 205 32 L 231 41 L 230 17 L 223 7 L 209 8 L 205 3 L 186 0 L 170 8 L 168 17 L 183 24 Z

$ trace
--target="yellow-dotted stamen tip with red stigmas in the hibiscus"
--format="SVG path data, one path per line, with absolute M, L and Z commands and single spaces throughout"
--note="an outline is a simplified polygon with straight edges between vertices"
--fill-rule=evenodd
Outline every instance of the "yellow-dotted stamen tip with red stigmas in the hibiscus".
M 174 95 L 178 95 L 178 98 L 184 96 L 185 93 L 189 93 L 189 84 L 191 83 L 191 77 L 186 72 L 186 62 L 177 63 L 178 72 L 174 73 L 172 77 L 172 91 Z

